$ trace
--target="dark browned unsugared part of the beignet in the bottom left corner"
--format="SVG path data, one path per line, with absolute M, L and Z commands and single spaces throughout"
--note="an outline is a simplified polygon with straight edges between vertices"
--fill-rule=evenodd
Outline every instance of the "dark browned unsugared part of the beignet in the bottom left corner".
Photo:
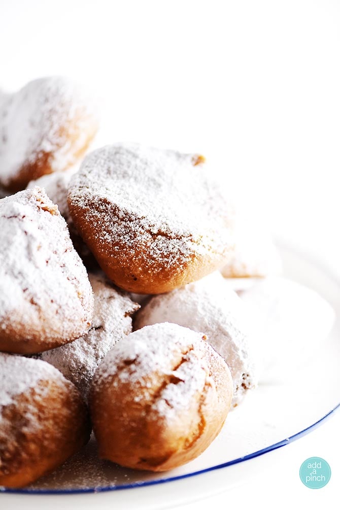
M 69 381 L 40 380 L 3 406 L 0 485 L 19 488 L 63 464 L 90 438 L 87 406 Z

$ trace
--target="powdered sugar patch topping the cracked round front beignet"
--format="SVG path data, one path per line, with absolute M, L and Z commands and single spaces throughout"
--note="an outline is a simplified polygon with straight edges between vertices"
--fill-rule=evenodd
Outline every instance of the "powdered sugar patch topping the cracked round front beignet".
M 101 385 L 112 378 L 116 387 L 133 385 L 139 389 L 135 401 L 153 401 L 148 413 L 171 421 L 203 393 L 206 384 L 214 388 L 219 385 L 218 372 L 211 372 L 216 356 L 201 333 L 167 322 L 146 326 L 111 349 L 95 373 L 92 389 L 94 393 L 100 391 Z M 174 379 L 161 388 L 157 398 L 152 398 L 152 374 L 161 381 Z

